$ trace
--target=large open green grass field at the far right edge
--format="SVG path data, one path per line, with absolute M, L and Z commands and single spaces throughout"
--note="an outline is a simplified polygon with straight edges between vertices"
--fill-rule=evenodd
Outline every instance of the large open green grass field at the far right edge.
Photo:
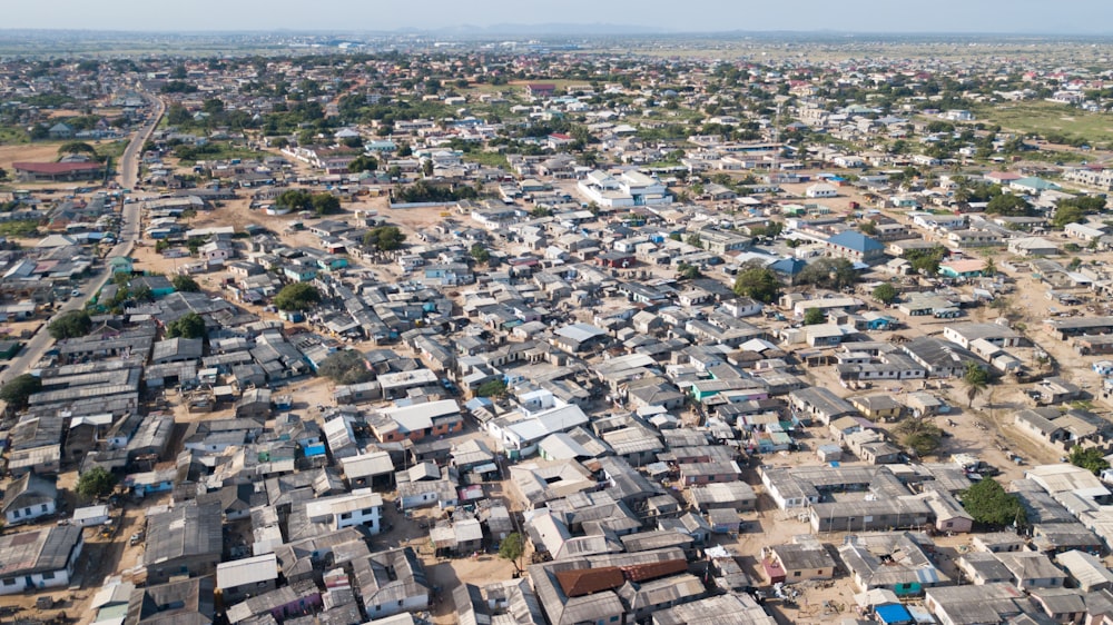
M 1093 142 L 1113 142 L 1113 115 L 1089 112 L 1046 101 L 1007 102 L 978 107 L 978 121 L 1024 133 L 1058 133 Z

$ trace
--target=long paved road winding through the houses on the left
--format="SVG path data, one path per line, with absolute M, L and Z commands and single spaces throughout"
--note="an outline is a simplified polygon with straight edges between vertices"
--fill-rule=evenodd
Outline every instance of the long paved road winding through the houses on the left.
M 155 106 L 155 110 L 150 120 L 131 138 L 128 147 L 124 150 L 124 156 L 120 158 L 119 171 L 121 186 L 125 189 L 135 188 L 136 180 L 139 176 L 139 157 L 142 155 L 142 146 L 147 142 L 147 139 L 150 138 L 155 128 L 158 127 L 159 120 L 162 119 L 162 113 L 166 112 L 166 105 L 162 103 L 160 99 L 154 96 L 146 97 Z M 135 201 L 131 204 L 125 204 L 122 210 L 122 222 L 120 224 L 119 242 L 112 248 L 108 256 L 130 255 L 131 249 L 135 247 L 135 242 L 138 239 L 139 202 Z M 100 275 L 95 276 L 91 280 L 81 285 L 81 297 L 70 298 L 69 301 L 63 304 L 61 308 L 58 309 L 56 315 L 82 308 L 89 296 L 100 290 L 100 288 L 108 282 L 109 277 L 108 268 L 106 267 Z M 19 356 L 12 358 L 8 368 L 0 371 L 0 384 L 3 384 L 11 377 L 27 373 L 42 359 L 42 355 L 47 353 L 47 349 L 53 343 L 53 339 L 50 338 L 50 333 L 47 331 L 47 325 L 49 325 L 49 320 L 43 324 L 42 328 L 40 328 L 39 331 L 27 341 L 22 351 L 19 353 Z

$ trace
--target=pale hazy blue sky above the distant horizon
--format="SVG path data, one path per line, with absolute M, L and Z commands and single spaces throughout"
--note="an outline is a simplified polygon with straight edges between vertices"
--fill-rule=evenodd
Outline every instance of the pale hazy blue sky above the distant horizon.
M 619 24 L 677 32 L 1113 33 L 1113 1 L 1072 0 L 11 0 L 0 29 L 147 31 Z

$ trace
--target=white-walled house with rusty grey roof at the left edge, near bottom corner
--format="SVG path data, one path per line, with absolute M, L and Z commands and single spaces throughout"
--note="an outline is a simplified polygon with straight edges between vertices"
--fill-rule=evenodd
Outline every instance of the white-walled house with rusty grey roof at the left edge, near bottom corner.
M 82 532 L 56 525 L 0 536 L 0 595 L 69 586 L 85 546 Z

